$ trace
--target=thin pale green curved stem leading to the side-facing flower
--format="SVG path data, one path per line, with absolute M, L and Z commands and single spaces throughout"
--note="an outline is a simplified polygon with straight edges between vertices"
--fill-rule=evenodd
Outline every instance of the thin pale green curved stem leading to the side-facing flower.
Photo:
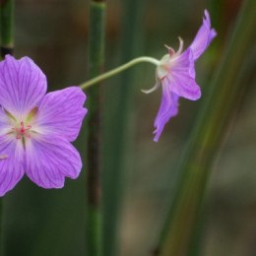
M 131 68 L 132 66 L 134 66 L 138 63 L 141 63 L 141 62 L 150 62 L 150 63 L 152 63 L 156 66 L 158 66 L 160 64 L 160 61 L 158 59 L 155 59 L 155 58 L 152 58 L 152 57 L 147 57 L 147 56 L 139 57 L 139 58 L 133 59 L 133 60 L 115 68 L 115 69 L 112 69 L 112 70 L 110 70 L 110 71 L 108 71 L 108 72 L 106 72 L 102 75 L 99 75 L 94 79 L 89 80 L 88 82 L 82 84 L 80 86 L 80 88 L 82 90 L 86 90 L 86 89 L 94 86 L 95 84 L 97 84 L 97 83 L 99 83 L 99 82 L 101 82 L 105 79 L 108 79 L 112 76 L 115 76 L 115 75 L 119 74 L 120 72 L 122 72 L 122 71 L 124 71 L 128 68 Z

